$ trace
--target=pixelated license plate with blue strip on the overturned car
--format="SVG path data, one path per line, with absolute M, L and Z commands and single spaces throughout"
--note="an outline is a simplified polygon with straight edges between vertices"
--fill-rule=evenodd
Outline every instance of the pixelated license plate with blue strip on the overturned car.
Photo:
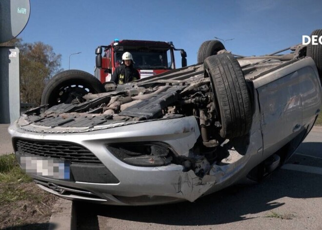
M 35 156 L 20 156 L 20 166 L 27 173 L 53 179 L 69 179 L 70 164 L 57 159 Z

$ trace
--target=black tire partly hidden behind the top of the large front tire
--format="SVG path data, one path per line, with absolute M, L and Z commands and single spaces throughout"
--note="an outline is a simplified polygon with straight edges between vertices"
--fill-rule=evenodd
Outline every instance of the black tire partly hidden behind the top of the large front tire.
M 218 40 L 203 42 L 198 50 L 198 63 L 203 63 L 206 58 L 216 55 L 218 51 L 223 49 L 225 49 L 224 45 Z

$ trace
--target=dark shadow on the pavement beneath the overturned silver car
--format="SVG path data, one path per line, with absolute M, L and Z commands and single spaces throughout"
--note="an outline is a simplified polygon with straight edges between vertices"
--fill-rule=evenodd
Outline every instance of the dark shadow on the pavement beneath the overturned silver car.
M 248 219 L 243 217 L 244 215 L 284 205 L 276 202 L 282 197 L 322 197 L 321 181 L 322 175 L 279 169 L 261 184 L 226 188 L 194 203 L 148 207 L 112 207 L 80 203 L 77 210 L 78 229 L 86 229 L 89 225 L 92 229 L 99 229 L 98 215 L 174 226 L 231 223 Z M 88 218 L 89 215 L 91 218 Z

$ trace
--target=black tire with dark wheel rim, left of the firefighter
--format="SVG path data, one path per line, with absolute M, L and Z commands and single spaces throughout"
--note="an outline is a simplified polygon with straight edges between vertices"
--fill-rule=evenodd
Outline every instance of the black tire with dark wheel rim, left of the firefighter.
M 46 84 L 41 105 L 51 107 L 61 103 L 71 103 L 73 99 L 87 93 L 106 92 L 103 84 L 90 73 L 81 70 L 65 70 L 56 74 Z

